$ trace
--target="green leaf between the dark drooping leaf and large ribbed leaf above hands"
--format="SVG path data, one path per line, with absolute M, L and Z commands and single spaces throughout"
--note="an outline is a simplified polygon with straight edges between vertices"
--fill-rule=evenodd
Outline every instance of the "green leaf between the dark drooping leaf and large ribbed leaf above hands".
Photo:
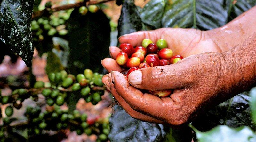
M 166 0 L 149 1 L 141 11 L 140 17 L 142 22 L 155 28 L 161 28 L 165 4 Z

